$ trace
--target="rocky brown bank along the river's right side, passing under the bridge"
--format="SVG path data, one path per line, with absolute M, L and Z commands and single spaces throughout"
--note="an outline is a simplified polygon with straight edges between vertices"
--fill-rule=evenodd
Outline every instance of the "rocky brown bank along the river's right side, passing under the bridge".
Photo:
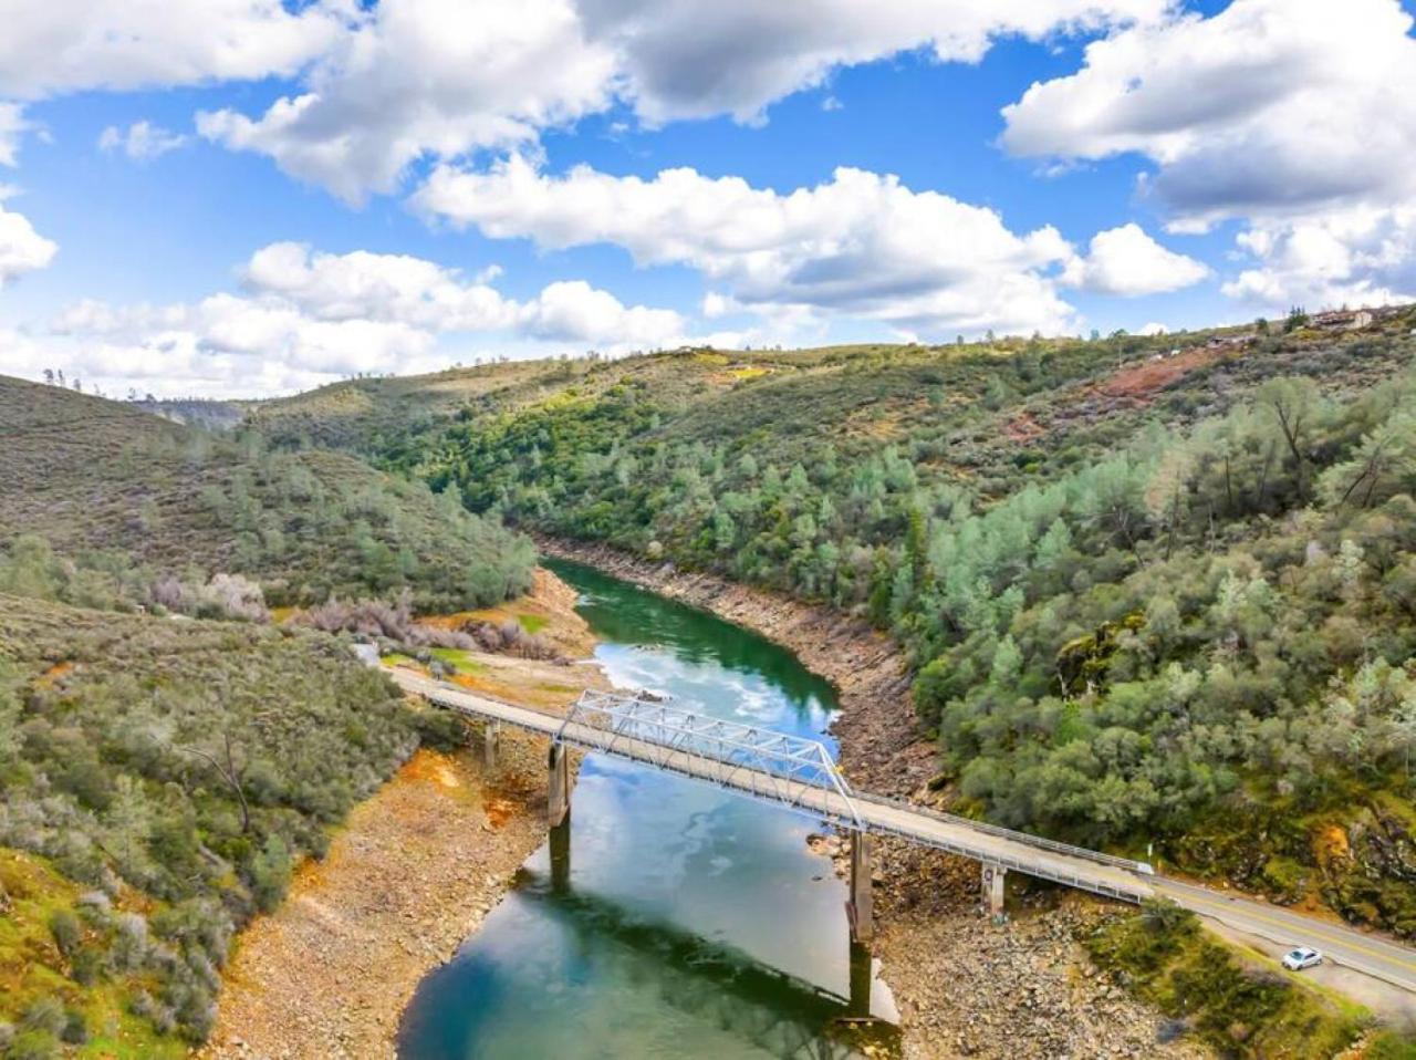
M 835 684 L 833 733 L 854 784 L 927 798 L 933 748 L 919 733 L 899 648 L 828 608 L 678 571 L 603 546 L 541 539 L 548 556 L 586 563 L 701 607 L 786 648 Z M 821 842 L 840 863 L 840 840 Z M 877 940 L 909 1060 L 933 1057 L 1202 1057 L 1172 1027 L 1092 966 L 1076 938 L 1114 915 L 1080 894 L 1014 894 L 1012 923 L 978 908 L 978 866 L 902 843 L 878 845 Z

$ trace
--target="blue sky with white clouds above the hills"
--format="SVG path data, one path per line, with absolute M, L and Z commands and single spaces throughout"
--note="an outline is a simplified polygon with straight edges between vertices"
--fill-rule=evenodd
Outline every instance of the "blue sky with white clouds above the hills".
M 0 373 L 1416 298 L 1416 0 L 0 0 Z

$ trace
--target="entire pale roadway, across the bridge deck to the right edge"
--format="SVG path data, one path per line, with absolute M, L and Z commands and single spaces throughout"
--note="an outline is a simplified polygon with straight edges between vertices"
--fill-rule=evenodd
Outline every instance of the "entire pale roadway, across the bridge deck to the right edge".
M 603 730 L 566 724 L 559 716 L 476 696 L 409 670 L 394 670 L 392 676 L 408 692 L 426 696 L 440 706 L 483 718 L 496 718 L 545 735 L 559 734 L 566 743 L 588 750 L 606 750 Z M 777 804 L 787 801 L 783 798 L 784 781 L 772 774 L 743 769 L 663 744 L 616 738 L 610 754 L 711 781 L 755 798 Z M 994 829 L 963 818 L 932 813 L 862 792 L 855 792 L 854 799 L 845 802 L 838 792 L 826 788 L 794 789 L 792 802 L 800 809 L 848 826 L 855 826 L 852 822 L 858 822 L 871 832 L 905 836 L 950 853 L 1001 864 L 1097 894 L 1129 901 L 1164 896 L 1239 931 L 1283 945 L 1317 947 L 1335 964 L 1416 993 L 1416 949 L 1378 935 L 1129 867 L 1136 863 Z

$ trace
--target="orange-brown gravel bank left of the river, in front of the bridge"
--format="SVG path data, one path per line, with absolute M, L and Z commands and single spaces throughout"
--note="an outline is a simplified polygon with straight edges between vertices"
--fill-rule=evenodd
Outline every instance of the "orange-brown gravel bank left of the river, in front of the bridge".
M 481 924 L 545 839 L 544 748 L 419 751 L 350 815 L 323 862 L 241 935 L 208 1060 L 392 1057 L 418 982 Z

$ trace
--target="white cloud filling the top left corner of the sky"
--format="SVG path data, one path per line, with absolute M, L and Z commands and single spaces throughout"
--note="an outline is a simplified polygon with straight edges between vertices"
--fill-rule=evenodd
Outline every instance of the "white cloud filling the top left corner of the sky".
M 6 6 L 0 95 L 37 99 L 292 75 L 360 18 L 353 0 L 51 0 Z

